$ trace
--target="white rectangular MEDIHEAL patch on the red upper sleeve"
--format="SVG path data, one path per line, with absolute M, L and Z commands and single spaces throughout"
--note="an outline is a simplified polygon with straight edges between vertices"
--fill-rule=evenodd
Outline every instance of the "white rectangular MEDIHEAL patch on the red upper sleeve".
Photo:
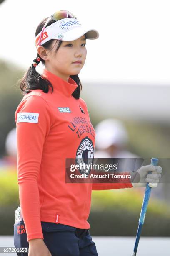
M 38 123 L 39 113 L 20 112 L 17 115 L 17 123 Z

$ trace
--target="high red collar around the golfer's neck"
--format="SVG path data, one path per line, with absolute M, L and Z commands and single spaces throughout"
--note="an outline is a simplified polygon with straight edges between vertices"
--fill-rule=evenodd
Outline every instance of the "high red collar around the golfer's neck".
M 47 69 L 43 70 L 42 76 L 51 82 L 54 90 L 62 92 L 67 97 L 71 96 L 72 92 L 77 88 L 77 83 L 71 77 L 69 77 L 68 82 L 66 82 L 61 77 L 58 77 Z

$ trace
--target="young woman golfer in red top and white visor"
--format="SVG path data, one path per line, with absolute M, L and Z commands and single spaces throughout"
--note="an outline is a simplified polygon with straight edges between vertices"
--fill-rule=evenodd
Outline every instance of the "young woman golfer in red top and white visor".
M 66 158 L 94 156 L 95 130 L 77 74 L 85 64 L 86 39 L 99 33 L 62 10 L 42 20 L 35 34 L 37 58 L 21 80 L 24 97 L 15 113 L 24 222 L 15 225 L 14 242 L 22 247 L 26 241 L 29 256 L 97 256 L 87 222 L 92 189 L 133 187 L 130 179 L 125 184 L 65 182 Z M 40 61 L 42 75 L 36 71 Z M 146 185 L 149 171 L 155 171 L 149 181 L 158 183 L 161 167 L 147 166 L 138 170 L 139 186 Z

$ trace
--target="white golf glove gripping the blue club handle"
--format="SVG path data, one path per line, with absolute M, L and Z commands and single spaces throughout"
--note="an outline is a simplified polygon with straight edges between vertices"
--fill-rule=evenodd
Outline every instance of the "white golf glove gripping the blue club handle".
M 152 164 L 140 167 L 136 172 L 130 172 L 133 187 L 146 187 L 149 182 L 150 187 L 157 187 L 163 168 Z M 148 172 L 152 172 L 148 174 Z

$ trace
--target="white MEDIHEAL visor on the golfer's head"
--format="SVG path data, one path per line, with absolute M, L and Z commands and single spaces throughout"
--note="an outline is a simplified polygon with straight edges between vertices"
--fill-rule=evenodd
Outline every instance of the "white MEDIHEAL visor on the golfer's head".
M 38 46 L 40 34 L 41 32 L 35 39 L 36 47 Z M 85 35 L 86 39 L 97 39 L 99 37 L 97 30 L 82 26 L 75 18 L 65 18 L 52 23 L 44 29 L 40 45 L 50 41 L 51 39 L 74 41 L 83 35 Z

